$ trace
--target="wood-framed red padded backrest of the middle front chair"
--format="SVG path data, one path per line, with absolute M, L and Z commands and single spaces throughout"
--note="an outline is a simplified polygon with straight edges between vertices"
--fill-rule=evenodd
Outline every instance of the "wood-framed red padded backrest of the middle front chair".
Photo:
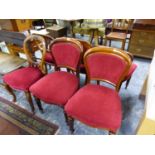
M 79 73 L 83 52 L 83 47 L 79 41 L 66 37 L 57 38 L 51 43 L 50 49 L 56 70 L 66 68 L 68 72 Z

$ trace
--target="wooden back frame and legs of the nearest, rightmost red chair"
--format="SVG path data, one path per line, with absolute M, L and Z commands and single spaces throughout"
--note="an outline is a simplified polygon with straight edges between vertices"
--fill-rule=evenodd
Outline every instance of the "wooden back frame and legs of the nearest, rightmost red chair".
M 94 53 L 100 53 L 100 54 L 104 54 L 104 55 L 114 55 L 114 56 L 117 56 L 117 57 L 123 59 L 126 62 L 127 67 L 124 70 L 124 72 L 122 73 L 122 76 L 120 77 L 119 81 L 116 84 L 112 83 L 111 81 L 106 80 L 106 79 L 99 79 L 99 78 L 91 78 L 90 77 L 90 71 L 89 71 L 86 59 L 89 55 L 94 54 Z M 111 47 L 106 47 L 106 46 L 98 46 L 98 47 L 94 47 L 94 48 L 89 49 L 85 53 L 83 60 L 84 60 L 85 66 L 86 66 L 86 73 L 87 73 L 86 84 L 89 84 L 91 82 L 91 80 L 96 80 L 97 85 L 100 85 L 100 81 L 102 81 L 102 82 L 105 82 L 105 83 L 108 83 L 108 84 L 114 86 L 114 88 L 117 92 L 119 92 L 122 81 L 124 80 L 124 77 L 128 73 L 130 66 L 131 66 L 131 58 L 129 57 L 129 55 L 127 53 L 125 53 L 123 50 L 111 48 Z M 69 125 L 71 133 L 73 133 L 74 132 L 74 119 L 71 116 L 68 116 L 68 125 Z M 108 130 L 109 130 L 109 134 L 116 134 L 116 133 L 110 131 L 110 129 L 108 129 Z

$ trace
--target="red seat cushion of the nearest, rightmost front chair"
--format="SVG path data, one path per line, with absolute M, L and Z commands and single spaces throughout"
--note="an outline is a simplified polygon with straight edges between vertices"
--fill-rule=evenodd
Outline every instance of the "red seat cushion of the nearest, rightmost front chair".
M 96 128 L 116 132 L 121 126 L 121 101 L 110 88 L 88 84 L 81 88 L 65 105 L 67 114 Z

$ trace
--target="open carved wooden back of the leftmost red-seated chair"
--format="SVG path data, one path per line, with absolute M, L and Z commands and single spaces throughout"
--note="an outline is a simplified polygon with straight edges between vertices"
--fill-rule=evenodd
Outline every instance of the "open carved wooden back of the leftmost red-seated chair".
M 24 51 L 27 57 L 29 66 L 38 67 L 42 73 L 46 73 L 45 54 L 46 44 L 43 37 L 38 35 L 30 35 L 24 40 Z M 41 60 L 37 58 L 41 54 Z

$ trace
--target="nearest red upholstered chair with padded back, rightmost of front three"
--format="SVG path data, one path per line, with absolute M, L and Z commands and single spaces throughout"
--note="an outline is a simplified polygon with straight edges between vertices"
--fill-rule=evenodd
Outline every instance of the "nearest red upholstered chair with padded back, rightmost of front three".
M 74 119 L 89 126 L 116 133 L 121 126 L 121 82 L 127 74 L 131 59 L 124 51 L 111 47 L 94 47 L 84 55 L 87 84 L 79 89 L 65 105 L 68 124 L 74 132 Z M 92 80 L 100 81 L 92 84 Z M 113 86 L 100 85 L 101 81 Z

